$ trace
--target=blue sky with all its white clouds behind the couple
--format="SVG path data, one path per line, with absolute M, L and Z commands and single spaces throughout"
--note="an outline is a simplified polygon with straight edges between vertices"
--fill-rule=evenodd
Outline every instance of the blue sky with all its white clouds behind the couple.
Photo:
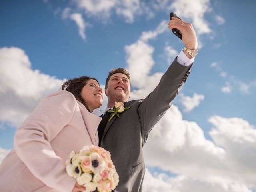
M 20 123 L 65 79 L 93 76 L 104 86 L 109 70 L 125 67 L 131 99 L 144 98 L 184 46 L 168 30 L 175 12 L 192 22 L 199 54 L 145 145 L 144 191 L 254 191 L 255 8 L 253 0 L 1 1 L 0 160 Z

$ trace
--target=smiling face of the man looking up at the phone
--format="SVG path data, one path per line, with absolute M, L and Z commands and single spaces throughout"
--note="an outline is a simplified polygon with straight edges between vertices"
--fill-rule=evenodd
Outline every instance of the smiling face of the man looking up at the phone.
M 130 81 L 125 74 L 115 73 L 110 76 L 105 94 L 109 100 L 126 102 L 130 97 Z

